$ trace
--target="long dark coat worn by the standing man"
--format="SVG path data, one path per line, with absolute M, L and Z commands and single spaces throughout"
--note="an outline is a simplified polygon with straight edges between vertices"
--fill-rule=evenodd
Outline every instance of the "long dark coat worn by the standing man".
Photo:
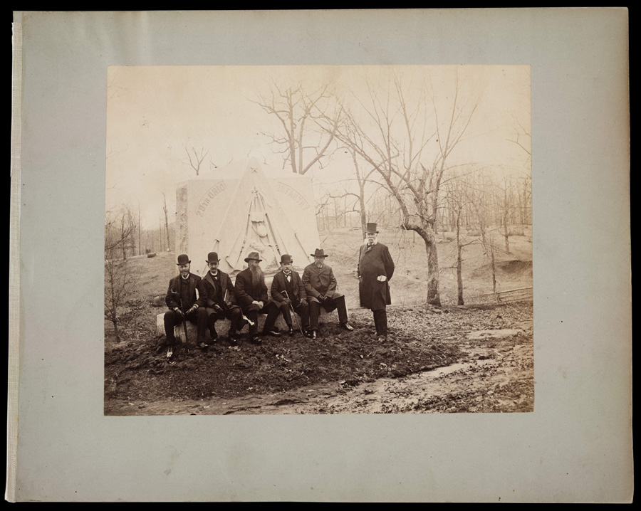
M 385 282 L 378 277 L 385 275 Z M 358 255 L 358 294 L 360 306 L 371 310 L 385 309 L 392 303 L 390 278 L 394 275 L 394 261 L 387 246 L 376 243 L 368 249 L 367 243 L 360 246 Z

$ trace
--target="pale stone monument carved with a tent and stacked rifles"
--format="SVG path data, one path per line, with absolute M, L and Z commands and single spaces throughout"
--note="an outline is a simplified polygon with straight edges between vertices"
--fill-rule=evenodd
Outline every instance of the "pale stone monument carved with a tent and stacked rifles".
M 320 246 L 311 179 L 251 159 L 184 181 L 177 188 L 176 246 L 201 275 L 212 251 L 232 275 L 247 267 L 250 252 L 261 254 L 268 276 L 283 254 L 302 270 Z

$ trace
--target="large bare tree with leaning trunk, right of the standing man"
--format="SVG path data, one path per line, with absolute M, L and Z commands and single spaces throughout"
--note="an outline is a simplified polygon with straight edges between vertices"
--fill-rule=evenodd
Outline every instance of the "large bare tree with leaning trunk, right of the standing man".
M 447 100 L 427 88 L 412 100 L 396 76 L 387 90 L 370 88 L 368 102 L 360 100 L 362 112 L 345 112 L 345 122 L 334 131 L 382 178 L 401 211 L 400 227 L 415 231 L 424 241 L 427 256 L 427 303 L 441 305 L 439 263 L 434 223 L 439 191 L 449 157 L 462 141 L 479 99 L 463 98 L 458 73 L 448 96 L 447 115 L 439 111 Z M 437 105 L 438 104 L 438 105 Z M 328 120 L 330 121 L 330 120 Z M 333 130 L 333 123 L 326 123 Z M 433 142 L 432 142 L 433 141 Z M 432 144 L 429 144 L 432 142 Z

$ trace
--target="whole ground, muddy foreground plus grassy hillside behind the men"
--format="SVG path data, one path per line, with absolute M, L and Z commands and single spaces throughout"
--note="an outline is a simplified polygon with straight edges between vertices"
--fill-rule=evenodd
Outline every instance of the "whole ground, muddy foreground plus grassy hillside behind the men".
M 499 290 L 531 285 L 531 233 L 496 252 Z M 372 313 L 358 307 L 358 232 L 320 233 L 350 308 L 353 332 L 322 325 L 320 339 L 267 337 L 256 346 L 222 338 L 171 361 L 155 316 L 165 311 L 175 254 L 129 260 L 136 275 L 121 310 L 121 341 L 105 321 L 105 414 L 430 413 L 533 411 L 533 305 L 449 305 L 455 301 L 455 244 L 439 234 L 443 307 L 425 307 L 424 246 L 411 235 L 380 239 L 397 269 L 390 280 L 390 337 L 378 342 Z M 465 296 L 491 291 L 480 246 L 464 253 Z M 192 260 L 195 256 L 192 257 Z M 471 300 L 474 302 L 474 300 Z M 224 334 L 224 332 L 221 332 Z

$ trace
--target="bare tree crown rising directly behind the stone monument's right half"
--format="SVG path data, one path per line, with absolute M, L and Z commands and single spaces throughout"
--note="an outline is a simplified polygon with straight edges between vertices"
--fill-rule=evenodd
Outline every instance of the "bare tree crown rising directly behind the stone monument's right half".
M 274 152 L 282 155 L 283 169 L 289 166 L 291 172 L 305 174 L 316 164 L 323 168 L 341 112 L 340 107 L 329 112 L 327 89 L 325 85 L 308 94 L 300 83 L 283 87 L 272 82 L 269 95 L 261 95 L 258 101 L 252 101 L 280 122 L 282 130 L 278 134 L 263 135 L 271 139 Z M 325 130 L 316 126 L 316 119 L 321 116 L 331 120 Z

